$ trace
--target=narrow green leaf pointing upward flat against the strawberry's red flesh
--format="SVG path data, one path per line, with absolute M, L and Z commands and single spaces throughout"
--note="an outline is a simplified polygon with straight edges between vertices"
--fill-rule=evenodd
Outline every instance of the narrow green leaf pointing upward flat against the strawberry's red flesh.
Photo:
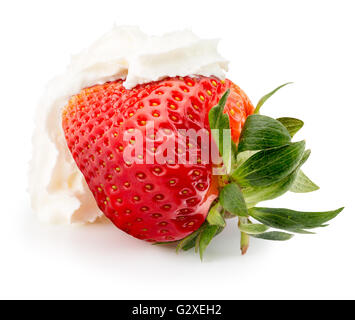
M 229 116 L 224 113 L 229 93 L 230 90 L 227 90 L 218 104 L 208 114 L 212 137 L 218 146 L 227 173 L 230 172 L 232 159 L 235 157 L 234 152 L 236 151 L 236 146 L 231 137 Z

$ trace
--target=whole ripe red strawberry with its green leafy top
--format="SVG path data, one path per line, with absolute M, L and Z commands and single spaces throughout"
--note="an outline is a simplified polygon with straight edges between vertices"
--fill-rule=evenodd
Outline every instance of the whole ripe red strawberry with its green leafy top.
M 63 110 L 63 130 L 99 208 L 119 229 L 148 242 L 176 243 L 178 251 L 196 247 L 202 259 L 225 219 L 237 217 L 244 254 L 250 237 L 288 240 L 343 210 L 256 207 L 287 191 L 318 189 L 301 170 L 310 156 L 305 142 L 291 141 L 303 122 L 259 114 L 283 86 L 254 110 L 230 80 L 175 77 L 131 90 L 118 80 L 73 96 Z M 230 144 L 221 140 L 226 129 Z M 208 140 L 191 139 L 186 130 Z M 206 161 L 207 144 L 217 147 L 223 166 Z M 180 161 L 184 157 L 196 161 Z M 223 175 L 215 175 L 216 167 Z

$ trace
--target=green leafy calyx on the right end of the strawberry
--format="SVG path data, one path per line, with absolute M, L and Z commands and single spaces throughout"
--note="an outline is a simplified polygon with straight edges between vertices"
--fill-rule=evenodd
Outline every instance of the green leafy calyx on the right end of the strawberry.
M 310 156 L 305 141 L 292 141 L 303 127 L 303 122 L 295 118 L 273 119 L 259 114 L 264 102 L 287 84 L 260 99 L 255 113 L 245 122 L 238 147 L 231 141 L 225 143 L 225 135 L 221 134 L 230 128 L 229 117 L 224 114 L 229 90 L 211 109 L 209 122 L 212 137 L 219 148 L 226 174 L 221 179 L 223 183 L 219 197 L 212 204 L 205 223 L 177 243 L 177 252 L 195 248 L 202 260 L 211 240 L 226 226 L 227 218 L 238 218 L 240 249 L 244 254 L 250 237 L 285 241 L 291 239 L 294 233 L 311 234 L 310 229 L 326 226 L 326 222 L 343 210 L 301 212 L 256 207 L 259 202 L 275 199 L 287 191 L 307 193 L 319 189 L 301 170 Z

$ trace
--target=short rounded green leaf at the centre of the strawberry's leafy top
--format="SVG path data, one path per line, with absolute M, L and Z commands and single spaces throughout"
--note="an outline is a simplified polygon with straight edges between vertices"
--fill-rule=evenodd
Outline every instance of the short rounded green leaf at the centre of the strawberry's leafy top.
M 227 184 L 220 192 L 219 200 L 224 209 L 229 213 L 247 217 L 248 209 L 245 204 L 243 193 L 235 183 Z

